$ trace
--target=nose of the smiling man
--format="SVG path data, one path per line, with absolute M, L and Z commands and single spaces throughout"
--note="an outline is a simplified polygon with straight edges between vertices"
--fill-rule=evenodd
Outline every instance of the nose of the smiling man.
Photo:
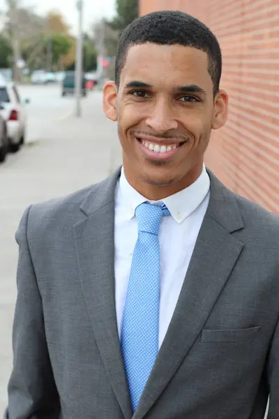
M 161 99 L 154 103 L 151 114 L 146 119 L 146 124 L 152 128 L 153 131 L 166 132 L 171 129 L 178 128 L 172 107 L 169 101 Z

